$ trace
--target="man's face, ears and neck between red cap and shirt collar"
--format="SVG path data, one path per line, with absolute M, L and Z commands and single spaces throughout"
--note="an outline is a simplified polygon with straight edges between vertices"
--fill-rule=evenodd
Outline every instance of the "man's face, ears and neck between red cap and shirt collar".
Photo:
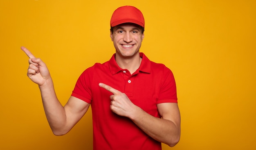
M 141 27 L 136 24 L 121 24 L 113 28 L 110 38 L 116 49 L 116 61 L 119 67 L 126 68 L 132 74 L 141 63 L 139 48 L 144 39 Z

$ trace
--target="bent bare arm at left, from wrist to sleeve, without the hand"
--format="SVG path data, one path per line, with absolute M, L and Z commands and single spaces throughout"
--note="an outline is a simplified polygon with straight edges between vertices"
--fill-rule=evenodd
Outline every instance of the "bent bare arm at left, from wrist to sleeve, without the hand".
M 45 115 L 54 135 L 65 135 L 87 112 L 90 104 L 70 96 L 63 107 L 56 97 L 53 86 L 39 86 Z

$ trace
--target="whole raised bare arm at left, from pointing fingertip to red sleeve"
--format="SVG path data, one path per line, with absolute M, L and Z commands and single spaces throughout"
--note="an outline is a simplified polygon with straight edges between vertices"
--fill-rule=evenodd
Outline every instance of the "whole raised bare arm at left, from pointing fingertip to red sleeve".
M 66 134 L 83 117 L 90 104 L 71 96 L 63 107 L 56 96 L 53 81 L 45 63 L 34 57 L 27 48 L 21 47 L 21 49 L 29 57 L 27 76 L 39 86 L 45 114 L 54 135 Z

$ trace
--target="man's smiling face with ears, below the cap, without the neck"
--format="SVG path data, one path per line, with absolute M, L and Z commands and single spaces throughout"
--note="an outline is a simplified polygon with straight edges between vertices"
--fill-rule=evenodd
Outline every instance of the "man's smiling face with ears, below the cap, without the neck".
M 113 28 L 110 37 L 116 49 L 116 57 L 139 56 L 139 48 L 144 38 L 142 27 L 137 24 L 119 24 Z

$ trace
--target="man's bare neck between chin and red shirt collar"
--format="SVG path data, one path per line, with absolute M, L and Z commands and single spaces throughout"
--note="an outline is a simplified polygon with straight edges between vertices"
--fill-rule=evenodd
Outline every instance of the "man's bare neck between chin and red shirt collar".
M 139 53 L 132 57 L 120 57 L 116 54 L 116 61 L 119 67 L 129 70 L 130 74 L 133 74 L 139 68 L 142 58 Z

